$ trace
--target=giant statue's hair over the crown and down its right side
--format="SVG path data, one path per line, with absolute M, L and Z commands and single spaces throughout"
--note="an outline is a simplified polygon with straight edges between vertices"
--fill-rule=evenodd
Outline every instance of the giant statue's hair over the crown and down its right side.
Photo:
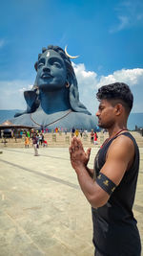
M 75 77 L 75 73 L 72 67 L 72 61 L 71 59 L 66 55 L 66 53 L 64 52 L 64 50 L 62 48 L 60 48 L 59 46 L 53 46 L 53 45 L 49 45 L 48 48 L 42 48 L 42 54 L 44 52 L 46 52 L 47 50 L 53 50 L 55 52 L 57 52 L 61 58 L 63 58 L 66 68 L 67 68 L 67 80 L 70 83 L 70 87 L 69 89 L 69 100 L 70 100 L 70 105 L 72 107 L 72 110 L 75 112 L 82 112 L 88 115 L 91 115 L 91 113 L 88 111 L 88 109 L 86 108 L 85 105 L 83 105 L 82 103 L 80 103 L 79 101 L 79 92 L 78 92 L 78 86 L 77 86 L 77 80 Z M 38 55 L 38 60 L 39 58 L 41 58 L 42 54 Z M 35 70 L 37 71 L 37 62 L 35 62 L 34 67 Z M 33 85 L 33 88 L 35 88 L 37 84 Z

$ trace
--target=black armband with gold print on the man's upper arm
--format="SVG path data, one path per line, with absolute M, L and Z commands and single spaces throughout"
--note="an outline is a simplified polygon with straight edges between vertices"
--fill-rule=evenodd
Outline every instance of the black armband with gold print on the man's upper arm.
M 99 175 L 96 178 L 96 182 L 110 196 L 112 195 L 112 192 L 116 188 L 116 185 L 112 182 L 112 180 L 106 175 L 103 175 L 102 173 L 99 173 Z

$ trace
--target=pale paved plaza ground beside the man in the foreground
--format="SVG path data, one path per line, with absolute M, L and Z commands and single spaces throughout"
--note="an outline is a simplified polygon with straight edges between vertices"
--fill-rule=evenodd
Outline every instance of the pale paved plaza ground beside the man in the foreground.
M 33 149 L 1 151 L 0 256 L 92 256 L 91 207 L 68 149 L 40 149 L 40 156 L 33 156 Z M 140 152 L 133 209 L 143 242 L 143 148 Z

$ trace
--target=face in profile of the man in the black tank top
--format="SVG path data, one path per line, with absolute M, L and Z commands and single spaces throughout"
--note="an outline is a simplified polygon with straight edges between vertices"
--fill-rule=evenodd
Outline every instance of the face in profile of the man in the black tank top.
M 110 101 L 102 100 L 96 112 L 99 128 L 111 128 L 115 122 L 115 108 Z

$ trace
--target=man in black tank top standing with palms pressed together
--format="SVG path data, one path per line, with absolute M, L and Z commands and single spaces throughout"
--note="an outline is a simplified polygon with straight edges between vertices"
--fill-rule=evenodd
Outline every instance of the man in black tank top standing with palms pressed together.
M 139 170 L 139 151 L 127 129 L 133 94 L 123 82 L 102 86 L 98 126 L 109 131 L 109 139 L 98 151 L 94 169 L 88 168 L 91 149 L 72 138 L 72 167 L 80 187 L 92 205 L 93 244 L 96 256 L 140 256 L 141 244 L 133 201 Z

